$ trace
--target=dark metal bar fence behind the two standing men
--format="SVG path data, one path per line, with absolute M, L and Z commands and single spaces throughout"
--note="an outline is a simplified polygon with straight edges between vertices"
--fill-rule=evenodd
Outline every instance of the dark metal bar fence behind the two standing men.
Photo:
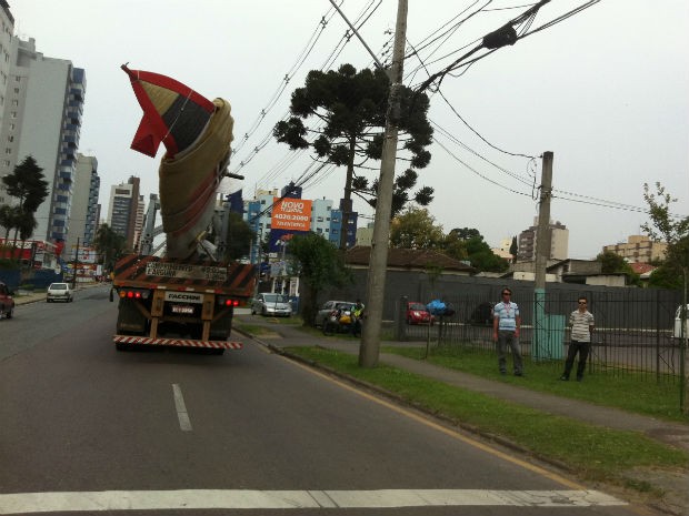
M 679 293 L 640 289 L 588 292 L 582 287 L 547 291 L 541 299 L 532 290 L 513 296 L 520 308 L 520 346 L 527 361 L 561 371 L 570 342 L 569 315 L 577 310 L 578 297 L 583 295 L 596 321 L 589 372 L 635 374 L 658 382 L 680 380 L 686 371 L 681 367 L 686 353 L 681 348 L 683 341 L 673 337 L 675 316 L 681 304 Z M 396 336 L 452 346 L 461 352 L 492 352 L 491 310 L 498 302 L 499 291 L 491 292 L 493 299 L 477 292 L 443 295 L 442 301 L 453 313 L 437 317 L 432 325 L 408 324 L 406 302 L 417 299 L 402 296 L 397 303 Z M 430 292 L 427 296 L 428 301 L 435 299 Z

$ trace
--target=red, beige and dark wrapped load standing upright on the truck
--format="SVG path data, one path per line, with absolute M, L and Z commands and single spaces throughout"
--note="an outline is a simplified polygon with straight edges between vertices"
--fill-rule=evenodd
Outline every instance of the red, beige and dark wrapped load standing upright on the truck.
M 230 103 L 210 101 L 181 82 L 130 70 L 143 117 L 131 148 L 154 156 L 166 146 L 159 194 L 166 255 L 187 259 L 197 252 L 211 223 L 218 186 L 230 159 L 233 120 Z

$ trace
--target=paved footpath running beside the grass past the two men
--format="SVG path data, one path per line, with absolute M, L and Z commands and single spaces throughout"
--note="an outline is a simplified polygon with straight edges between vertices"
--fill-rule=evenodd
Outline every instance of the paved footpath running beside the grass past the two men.
M 318 335 L 313 336 L 302 332 L 299 326 L 271 323 L 270 318 L 258 318 L 251 315 L 237 315 L 236 317 L 247 324 L 262 326 L 272 331 L 272 334 L 253 336 L 252 338 L 278 352 L 282 352 L 286 347 L 320 346 L 356 355 L 359 353 L 358 340 L 320 338 Z M 387 341 L 385 345 L 425 346 L 425 343 Z M 500 381 L 487 380 L 395 354 L 381 353 L 380 362 L 421 376 L 445 382 L 449 385 L 518 403 L 549 414 L 566 416 L 613 429 L 641 432 L 648 437 L 661 443 L 689 451 L 689 424 L 666 422 L 617 408 L 593 405 L 571 398 L 562 398 L 531 391 L 526 387 L 515 386 L 513 384 L 510 384 L 510 387 L 506 388 L 506 384 Z M 656 478 L 645 477 L 643 480 L 649 482 L 666 493 L 663 506 L 657 508 L 670 514 L 689 516 L 688 472 L 677 472 L 676 474 L 659 472 Z

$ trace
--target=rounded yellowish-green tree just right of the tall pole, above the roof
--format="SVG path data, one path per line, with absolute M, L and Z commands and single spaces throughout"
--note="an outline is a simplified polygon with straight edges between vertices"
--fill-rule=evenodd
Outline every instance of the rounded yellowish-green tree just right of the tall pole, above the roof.
M 438 249 L 445 235 L 427 209 L 408 208 L 390 224 L 390 246 L 402 249 Z

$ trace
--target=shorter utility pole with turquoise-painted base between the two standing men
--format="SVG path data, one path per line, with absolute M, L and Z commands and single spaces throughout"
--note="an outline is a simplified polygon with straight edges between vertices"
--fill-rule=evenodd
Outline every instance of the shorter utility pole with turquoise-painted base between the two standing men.
M 552 198 L 552 152 L 543 152 L 541 172 L 538 230 L 536 233 L 536 271 L 533 285 L 533 344 L 532 355 L 541 357 L 546 355 L 547 327 L 546 327 L 546 267 L 550 256 L 550 199 Z

